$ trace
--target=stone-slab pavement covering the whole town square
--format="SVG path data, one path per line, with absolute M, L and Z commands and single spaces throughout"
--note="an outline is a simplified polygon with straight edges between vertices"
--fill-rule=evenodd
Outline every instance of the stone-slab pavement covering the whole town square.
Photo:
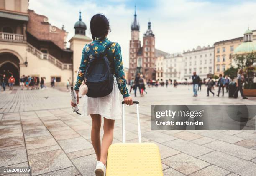
M 159 146 L 164 176 L 256 175 L 256 131 L 151 130 L 150 124 L 151 104 L 255 104 L 256 97 L 206 97 L 205 87 L 192 97 L 192 86 L 146 91 L 133 99 L 140 101 L 142 141 Z M 0 99 L 0 167 L 30 166 L 33 176 L 94 175 L 91 119 L 72 112 L 69 92 L 18 89 L 0 92 Z M 136 107 L 126 110 L 126 139 L 136 142 Z M 116 120 L 113 143 L 121 142 L 121 127 Z

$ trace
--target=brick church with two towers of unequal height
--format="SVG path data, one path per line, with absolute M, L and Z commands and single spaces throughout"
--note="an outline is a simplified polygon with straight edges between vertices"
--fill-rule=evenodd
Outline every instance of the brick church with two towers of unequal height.
M 137 22 L 136 7 L 134 20 L 131 24 L 130 60 L 128 80 L 136 77 L 136 74 L 143 74 L 148 79 L 156 79 L 155 71 L 155 35 L 151 30 L 151 22 L 148 22 L 148 30 L 143 36 L 143 46 L 139 38 L 140 25 Z

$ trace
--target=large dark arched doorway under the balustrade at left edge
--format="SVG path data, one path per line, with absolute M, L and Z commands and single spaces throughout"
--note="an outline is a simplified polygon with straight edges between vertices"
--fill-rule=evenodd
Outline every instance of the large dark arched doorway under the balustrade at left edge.
M 11 75 L 15 78 L 15 85 L 19 85 L 20 67 L 19 59 L 11 53 L 0 53 L 0 77 L 3 74 L 9 79 Z

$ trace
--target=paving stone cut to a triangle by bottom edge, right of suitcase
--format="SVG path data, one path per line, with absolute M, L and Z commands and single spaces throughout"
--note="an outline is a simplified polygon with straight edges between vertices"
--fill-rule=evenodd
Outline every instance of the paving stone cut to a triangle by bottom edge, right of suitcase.
M 230 171 L 222 169 L 218 166 L 211 165 L 201 169 L 200 171 L 190 174 L 189 176 L 225 176 L 228 173 L 230 173 Z

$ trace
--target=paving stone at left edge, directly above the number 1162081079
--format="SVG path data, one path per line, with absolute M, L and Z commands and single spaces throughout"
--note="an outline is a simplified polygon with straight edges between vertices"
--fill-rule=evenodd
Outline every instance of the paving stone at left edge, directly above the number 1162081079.
M 25 147 L 0 150 L 0 166 L 8 166 L 27 161 Z

